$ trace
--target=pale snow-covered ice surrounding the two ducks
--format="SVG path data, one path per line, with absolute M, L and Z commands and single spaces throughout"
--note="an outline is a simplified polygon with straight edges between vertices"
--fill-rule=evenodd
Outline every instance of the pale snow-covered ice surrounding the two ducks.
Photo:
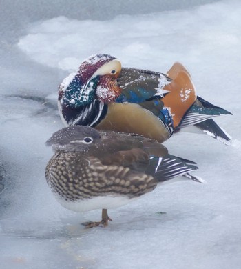
M 49 6 L 42 8 L 50 19 L 34 21 L 13 5 L 12 25 L 8 10 L 1 11 L 0 268 L 240 268 L 241 3 L 209 2 L 136 15 L 132 5 L 132 15 L 102 21 L 56 17 Z M 95 53 L 160 72 L 182 62 L 198 94 L 233 113 L 216 119 L 233 144 L 205 135 L 171 137 L 169 152 L 196 161 L 195 174 L 207 184 L 162 186 L 109 210 L 114 221 L 107 228 L 85 230 L 80 223 L 99 220 L 101 210 L 77 214 L 54 200 L 44 176 L 52 152 L 44 143 L 63 127 L 59 83 Z

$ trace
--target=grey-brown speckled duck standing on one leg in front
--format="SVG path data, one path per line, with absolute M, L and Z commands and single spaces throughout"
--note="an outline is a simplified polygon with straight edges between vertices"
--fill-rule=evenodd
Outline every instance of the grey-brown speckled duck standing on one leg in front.
M 102 220 L 83 223 L 87 228 L 107 226 L 107 209 L 134 201 L 158 183 L 180 175 L 202 182 L 189 174 L 198 169 L 196 163 L 169 155 L 163 144 L 138 135 L 69 126 L 46 145 L 55 153 L 45 177 L 59 203 L 75 212 L 102 209 Z

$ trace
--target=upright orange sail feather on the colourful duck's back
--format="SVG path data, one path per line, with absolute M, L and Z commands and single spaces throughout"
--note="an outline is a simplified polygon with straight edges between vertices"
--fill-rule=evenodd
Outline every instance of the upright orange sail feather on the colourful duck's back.
M 176 128 L 196 101 L 197 95 L 191 76 L 181 63 L 174 63 L 167 76 L 173 80 L 165 86 L 164 89 L 169 90 L 169 94 L 166 94 L 162 101 L 169 109 Z

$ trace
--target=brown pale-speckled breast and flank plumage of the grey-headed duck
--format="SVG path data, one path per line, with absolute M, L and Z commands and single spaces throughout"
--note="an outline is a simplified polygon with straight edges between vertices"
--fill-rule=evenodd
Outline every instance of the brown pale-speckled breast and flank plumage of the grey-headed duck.
M 46 179 L 53 192 L 70 201 L 107 194 L 138 197 L 158 183 L 151 175 L 124 166 L 106 166 L 82 152 L 56 152 L 46 168 Z

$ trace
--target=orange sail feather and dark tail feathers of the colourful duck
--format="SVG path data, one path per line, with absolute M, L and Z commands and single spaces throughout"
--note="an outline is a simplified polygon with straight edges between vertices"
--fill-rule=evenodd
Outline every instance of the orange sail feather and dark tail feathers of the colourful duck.
M 229 142 L 231 136 L 211 118 L 231 112 L 198 97 L 191 75 L 181 63 L 174 63 L 167 72 L 167 77 L 172 81 L 165 86 L 169 93 L 162 101 L 172 115 L 174 132 L 187 126 L 195 126 L 223 143 Z

